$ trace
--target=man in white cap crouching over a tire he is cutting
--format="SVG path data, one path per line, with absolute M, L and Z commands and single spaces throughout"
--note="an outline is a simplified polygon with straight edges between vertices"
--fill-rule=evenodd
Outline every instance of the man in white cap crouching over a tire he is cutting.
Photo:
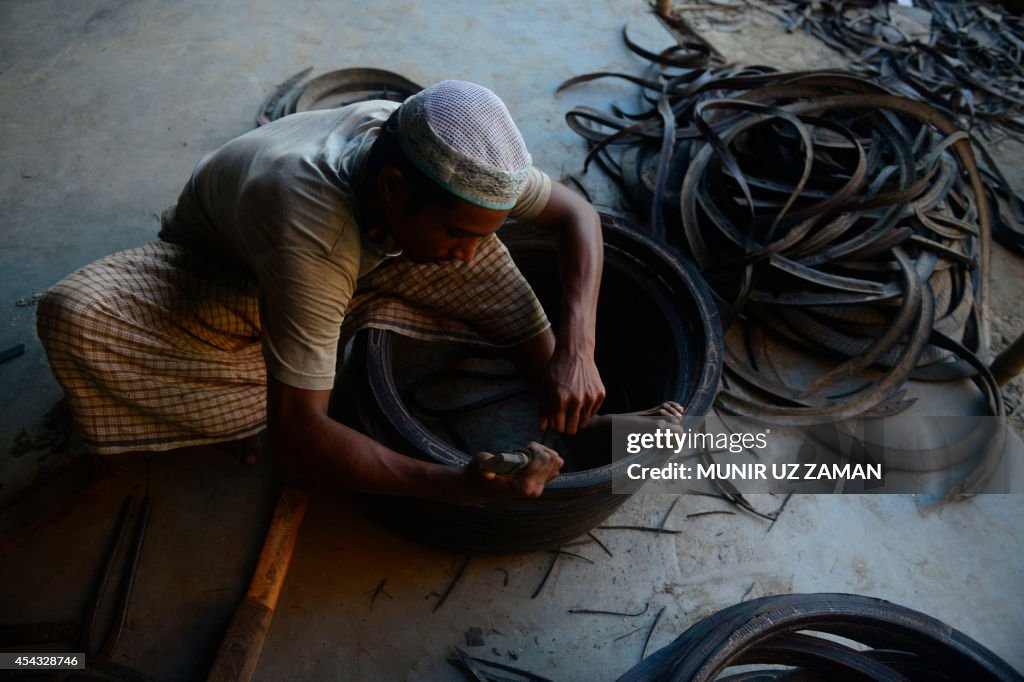
M 558 230 L 556 336 L 494 232 Z M 477 504 L 536 497 L 562 465 L 530 443 L 512 478 L 399 455 L 330 419 L 339 343 L 364 327 L 513 346 L 541 427 L 586 428 L 603 262 L 591 206 L 531 167 L 504 103 L 444 81 L 393 102 L 286 117 L 200 162 L 158 242 L 40 301 L 39 335 L 99 454 L 232 441 L 367 493 Z

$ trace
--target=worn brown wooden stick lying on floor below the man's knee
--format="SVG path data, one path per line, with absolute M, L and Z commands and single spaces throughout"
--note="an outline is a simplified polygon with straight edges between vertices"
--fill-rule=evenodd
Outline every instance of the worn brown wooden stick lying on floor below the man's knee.
M 249 592 L 234 611 L 207 682 L 246 682 L 256 672 L 308 502 L 295 488 L 281 494 Z

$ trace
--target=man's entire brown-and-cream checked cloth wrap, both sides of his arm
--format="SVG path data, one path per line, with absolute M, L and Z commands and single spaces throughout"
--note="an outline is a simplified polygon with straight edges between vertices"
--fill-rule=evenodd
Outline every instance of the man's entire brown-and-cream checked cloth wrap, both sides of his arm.
M 153 242 L 102 258 L 39 301 L 37 329 L 86 445 L 100 455 L 233 440 L 266 422 L 255 285 Z M 513 345 L 549 326 L 498 239 L 472 263 L 390 262 L 343 326 Z

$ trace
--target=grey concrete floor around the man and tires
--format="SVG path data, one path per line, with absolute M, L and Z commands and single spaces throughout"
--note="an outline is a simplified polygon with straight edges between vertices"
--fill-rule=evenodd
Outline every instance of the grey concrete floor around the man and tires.
M 250 129 L 276 83 L 307 66 L 477 81 L 505 98 L 538 165 L 558 176 L 585 154 L 563 113 L 603 108 L 633 88 L 554 88 L 585 72 L 637 72 L 620 39 L 626 23 L 647 44 L 668 44 L 640 0 L 0 3 L 0 349 L 27 346 L 0 366 L 0 499 L 70 450 L 40 425 L 59 389 L 33 331 L 33 297 L 96 257 L 154 239 L 196 161 Z M 833 59 L 766 16 L 709 37 L 780 67 Z M 1015 259 L 996 261 L 1005 282 L 1019 278 Z M 248 584 L 276 475 L 267 458 L 244 469 L 202 449 L 114 463 L 98 493 L 0 556 L 0 623 L 78 617 L 121 501 L 150 481 L 151 528 L 114 659 L 162 680 L 202 678 Z M 756 500 L 766 511 L 778 503 Z M 671 504 L 637 497 L 614 521 L 656 523 Z M 770 535 L 750 516 L 687 516 L 727 509 L 683 496 L 668 524 L 681 535 L 598 531 L 611 555 L 594 543 L 569 548 L 593 563 L 560 558 L 536 599 L 548 555 L 473 558 L 434 612 L 462 557 L 380 529 L 347 496 L 318 495 L 257 679 L 462 679 L 444 658 L 479 628 L 485 644 L 468 649 L 474 655 L 556 680 L 611 680 L 640 659 L 663 606 L 648 651 L 744 594 L 791 591 L 918 608 L 1024 670 L 1024 497 L 924 511 L 905 496 L 802 496 Z M 567 612 L 645 605 L 635 617 Z

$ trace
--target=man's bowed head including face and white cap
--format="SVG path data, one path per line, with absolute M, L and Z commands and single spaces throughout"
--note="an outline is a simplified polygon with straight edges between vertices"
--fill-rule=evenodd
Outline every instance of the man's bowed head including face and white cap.
M 530 157 L 486 88 L 442 81 L 399 106 L 368 165 L 377 218 L 416 262 L 472 259 L 526 183 Z

